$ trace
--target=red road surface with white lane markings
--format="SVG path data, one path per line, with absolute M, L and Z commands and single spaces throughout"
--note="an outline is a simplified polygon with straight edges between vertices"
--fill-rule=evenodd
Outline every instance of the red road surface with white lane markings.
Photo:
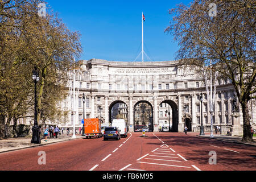
M 0 154 L 4 171 L 255 171 L 254 146 L 184 133 L 76 139 Z M 45 152 L 46 164 L 40 151 Z M 216 155 L 214 155 L 216 154 Z M 211 164 L 210 164 L 211 163 Z

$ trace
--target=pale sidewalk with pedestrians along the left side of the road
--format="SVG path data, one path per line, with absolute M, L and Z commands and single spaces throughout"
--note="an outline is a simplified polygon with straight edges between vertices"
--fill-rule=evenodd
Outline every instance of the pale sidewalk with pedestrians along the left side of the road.
M 0 153 L 20 150 L 24 148 L 38 147 L 46 144 L 52 144 L 57 142 L 63 142 L 67 140 L 73 140 L 72 134 L 69 136 L 67 134 L 58 135 L 58 138 L 47 138 L 47 142 L 44 138 L 41 139 L 40 144 L 31 143 L 32 137 L 19 137 L 19 138 L 8 138 L 0 140 Z M 81 134 L 76 134 L 76 138 L 82 138 Z

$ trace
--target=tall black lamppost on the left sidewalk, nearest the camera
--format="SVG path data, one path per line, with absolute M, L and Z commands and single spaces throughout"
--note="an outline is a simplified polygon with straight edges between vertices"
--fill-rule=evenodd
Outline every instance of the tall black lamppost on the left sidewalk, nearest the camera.
M 32 139 L 31 143 L 41 143 L 40 133 L 39 133 L 39 126 L 38 126 L 38 110 L 37 110 L 37 101 L 36 101 L 36 83 L 39 81 L 39 73 L 35 69 L 32 71 L 32 80 L 35 83 L 35 119 L 34 119 L 34 126 L 32 127 Z

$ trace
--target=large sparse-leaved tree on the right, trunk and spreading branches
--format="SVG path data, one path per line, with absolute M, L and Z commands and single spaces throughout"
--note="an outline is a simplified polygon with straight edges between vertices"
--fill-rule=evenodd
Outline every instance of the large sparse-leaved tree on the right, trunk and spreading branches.
M 211 61 L 232 80 L 243 113 L 242 141 L 253 141 L 248 102 L 256 98 L 255 8 L 253 0 L 195 0 L 170 10 L 165 30 L 179 43 L 176 58 L 182 64 L 201 70 Z

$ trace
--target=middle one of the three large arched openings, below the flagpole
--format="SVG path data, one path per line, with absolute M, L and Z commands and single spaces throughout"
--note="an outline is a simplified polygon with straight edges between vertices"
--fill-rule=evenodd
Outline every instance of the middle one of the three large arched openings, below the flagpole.
M 153 131 L 153 107 L 148 101 L 139 101 L 134 106 L 134 131 Z

